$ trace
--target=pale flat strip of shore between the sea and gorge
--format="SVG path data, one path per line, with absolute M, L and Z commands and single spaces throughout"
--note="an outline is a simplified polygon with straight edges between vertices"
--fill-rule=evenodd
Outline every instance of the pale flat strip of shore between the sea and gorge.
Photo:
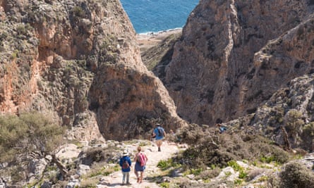
M 136 34 L 136 41 L 140 46 L 140 51 L 150 49 L 152 46 L 156 46 L 163 39 L 172 34 L 179 34 L 182 32 L 182 28 L 175 28 L 171 30 L 164 30 L 160 32 L 147 32 L 147 34 Z

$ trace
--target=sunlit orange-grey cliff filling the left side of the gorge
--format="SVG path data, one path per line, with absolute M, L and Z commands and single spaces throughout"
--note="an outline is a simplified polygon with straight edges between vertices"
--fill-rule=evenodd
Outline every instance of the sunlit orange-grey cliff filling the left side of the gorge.
M 86 140 L 184 124 L 119 1 L 0 1 L 0 23 L 1 113 L 41 111 Z

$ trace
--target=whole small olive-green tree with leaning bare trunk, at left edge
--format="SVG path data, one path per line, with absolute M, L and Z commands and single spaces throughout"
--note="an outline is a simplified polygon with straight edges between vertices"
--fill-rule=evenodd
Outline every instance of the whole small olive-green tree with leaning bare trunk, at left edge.
M 56 153 L 65 141 L 64 133 L 64 127 L 56 125 L 41 113 L 1 116 L 0 163 L 6 162 L 8 166 L 24 169 L 32 159 L 44 158 L 49 163 L 55 163 L 66 177 L 65 166 L 56 158 Z

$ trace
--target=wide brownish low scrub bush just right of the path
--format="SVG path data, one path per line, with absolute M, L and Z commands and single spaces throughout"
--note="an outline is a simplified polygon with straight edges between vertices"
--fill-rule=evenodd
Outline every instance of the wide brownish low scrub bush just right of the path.
M 195 136 L 198 133 L 199 135 L 205 134 L 205 136 L 201 136 L 202 138 Z M 229 165 L 229 161 L 243 159 L 286 163 L 290 157 L 284 149 L 260 134 L 248 134 L 241 131 L 236 132 L 236 130 L 230 134 L 227 132 L 217 134 L 211 128 L 204 131 L 203 127 L 191 125 L 186 128 L 186 133 L 182 138 L 184 142 L 193 144 L 175 160 L 187 165 L 188 168 L 205 169 L 212 165 L 224 168 Z

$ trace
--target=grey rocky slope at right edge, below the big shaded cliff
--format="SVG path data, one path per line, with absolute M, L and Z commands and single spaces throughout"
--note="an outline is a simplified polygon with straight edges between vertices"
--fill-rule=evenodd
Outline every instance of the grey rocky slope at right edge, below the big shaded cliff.
M 248 124 L 255 130 L 262 130 L 267 137 L 282 146 L 287 144 L 284 140 L 285 130 L 291 148 L 301 147 L 313 152 L 313 83 L 313 74 L 291 80 L 263 106 L 258 107 Z

